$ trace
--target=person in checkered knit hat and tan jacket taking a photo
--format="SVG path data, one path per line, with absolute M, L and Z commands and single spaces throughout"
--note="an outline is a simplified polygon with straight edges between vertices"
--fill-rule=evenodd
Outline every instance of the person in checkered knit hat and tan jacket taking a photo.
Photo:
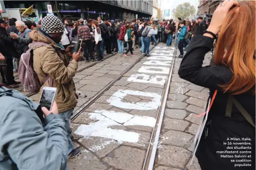
M 77 103 L 73 76 L 78 68 L 77 62 L 81 59 L 81 48 L 77 53 L 72 54 L 72 61 L 69 62 L 67 53 L 70 53 L 70 47 L 65 50 L 63 45 L 60 44 L 65 30 L 61 20 L 50 15 L 42 19 L 41 29 L 33 30 L 29 35 L 33 40 L 32 45 L 35 41 L 45 43 L 45 45 L 33 47 L 33 69 L 39 81 L 45 81 L 39 93 L 42 92 L 44 86 L 57 88 L 55 100 L 59 115 L 65 122 L 69 145 L 68 154 L 72 158 L 80 153 L 79 149 L 74 149 L 70 139 L 70 117 Z

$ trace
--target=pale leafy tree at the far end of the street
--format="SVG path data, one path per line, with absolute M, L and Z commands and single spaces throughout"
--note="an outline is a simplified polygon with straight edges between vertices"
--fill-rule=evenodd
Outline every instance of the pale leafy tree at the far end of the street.
M 195 7 L 191 6 L 189 3 L 184 3 L 177 6 L 174 12 L 174 16 L 183 20 L 194 13 Z

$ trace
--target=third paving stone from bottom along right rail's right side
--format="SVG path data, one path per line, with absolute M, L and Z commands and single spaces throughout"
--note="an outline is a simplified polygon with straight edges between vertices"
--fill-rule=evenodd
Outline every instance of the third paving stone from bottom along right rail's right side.
M 163 120 L 163 128 L 168 130 L 182 131 L 184 132 L 189 126 L 189 122 L 179 119 L 168 119 Z

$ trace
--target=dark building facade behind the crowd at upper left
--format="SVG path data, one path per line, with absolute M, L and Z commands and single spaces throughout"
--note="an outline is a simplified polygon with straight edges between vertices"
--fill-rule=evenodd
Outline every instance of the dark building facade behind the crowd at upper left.
M 153 0 L 146 1 L 4 1 L 6 8 L 33 8 L 38 15 L 45 17 L 47 5 L 52 5 L 54 15 L 61 19 L 78 20 L 79 18 L 103 20 L 114 19 L 150 19 L 153 14 Z M 38 17 L 39 17 L 38 16 Z

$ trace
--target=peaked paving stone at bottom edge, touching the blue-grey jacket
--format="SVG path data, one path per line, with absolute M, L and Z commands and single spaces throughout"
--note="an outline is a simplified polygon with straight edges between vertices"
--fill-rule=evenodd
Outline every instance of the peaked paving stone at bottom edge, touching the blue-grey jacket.
M 99 158 L 84 148 L 80 155 L 68 159 L 68 166 L 71 170 L 105 170 L 107 168 Z

